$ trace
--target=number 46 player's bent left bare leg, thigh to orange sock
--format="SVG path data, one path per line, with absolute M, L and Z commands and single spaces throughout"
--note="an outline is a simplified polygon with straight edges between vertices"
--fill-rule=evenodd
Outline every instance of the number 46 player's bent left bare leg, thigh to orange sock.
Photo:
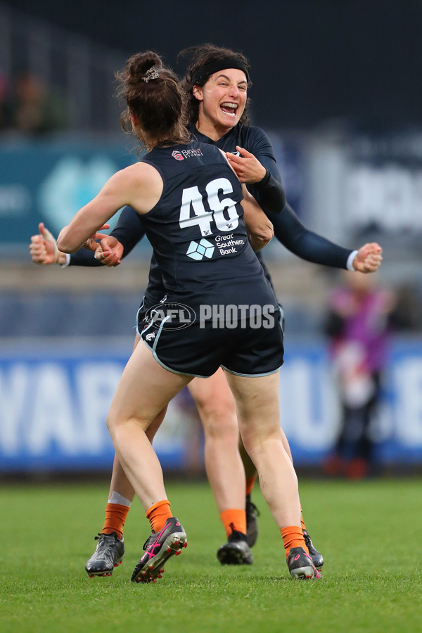
M 167 499 L 158 457 L 146 436 L 160 411 L 191 381 L 164 369 L 146 345 L 127 362 L 108 414 L 120 464 L 145 510 Z

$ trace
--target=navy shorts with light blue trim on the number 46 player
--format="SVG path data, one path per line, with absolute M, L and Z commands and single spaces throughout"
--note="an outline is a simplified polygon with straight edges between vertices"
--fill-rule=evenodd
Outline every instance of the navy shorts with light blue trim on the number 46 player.
M 165 322 L 154 323 L 148 318 L 148 308 L 141 305 L 137 331 L 155 359 L 174 373 L 208 378 L 222 366 L 238 376 L 266 376 L 283 364 L 279 309 L 273 321 L 272 326 L 267 322 L 265 327 L 257 327 L 253 319 L 235 327 L 215 328 L 211 323 L 201 327 L 198 321 L 185 327 L 166 326 Z

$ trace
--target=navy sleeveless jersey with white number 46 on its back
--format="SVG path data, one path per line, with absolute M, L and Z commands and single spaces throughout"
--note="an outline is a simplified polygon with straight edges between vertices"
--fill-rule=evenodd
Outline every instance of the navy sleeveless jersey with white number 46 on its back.
M 243 219 L 241 184 L 213 144 L 158 146 L 143 156 L 160 173 L 162 195 L 142 215 L 160 273 L 147 303 L 273 305 L 278 308 Z M 153 283 L 153 290 L 156 284 Z

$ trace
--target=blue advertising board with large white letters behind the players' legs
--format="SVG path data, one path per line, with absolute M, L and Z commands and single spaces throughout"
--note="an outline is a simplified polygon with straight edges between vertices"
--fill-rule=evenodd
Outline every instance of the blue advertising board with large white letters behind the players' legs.
M 0 347 L 0 471 L 110 468 L 106 416 L 132 341 Z M 281 426 L 296 466 L 316 465 L 338 432 L 339 404 L 324 343 L 290 341 L 281 369 Z M 374 423 L 379 463 L 422 463 L 422 340 L 392 350 L 383 407 Z M 187 392 L 155 438 L 162 466 L 202 463 L 198 418 Z

